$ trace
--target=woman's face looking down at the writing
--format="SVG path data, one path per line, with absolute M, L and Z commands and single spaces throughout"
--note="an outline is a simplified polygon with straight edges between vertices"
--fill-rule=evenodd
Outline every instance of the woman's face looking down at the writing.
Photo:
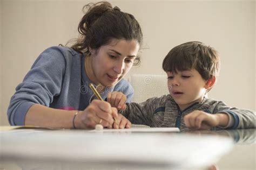
M 137 40 L 112 40 L 91 51 L 92 71 L 98 83 L 115 86 L 129 72 L 139 51 Z

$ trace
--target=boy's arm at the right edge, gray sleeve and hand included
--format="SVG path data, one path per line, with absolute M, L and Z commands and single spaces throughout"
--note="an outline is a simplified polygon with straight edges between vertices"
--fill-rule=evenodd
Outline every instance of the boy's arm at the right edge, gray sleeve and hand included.
M 245 129 L 255 128 L 255 112 L 246 109 L 230 108 L 224 102 L 215 102 L 208 110 L 194 110 L 184 117 L 187 128 Z

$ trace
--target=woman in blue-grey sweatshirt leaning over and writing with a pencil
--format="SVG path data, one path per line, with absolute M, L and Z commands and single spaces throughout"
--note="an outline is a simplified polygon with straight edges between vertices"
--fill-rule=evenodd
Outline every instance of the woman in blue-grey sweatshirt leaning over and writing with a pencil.
M 131 85 L 122 78 L 140 61 L 140 25 L 132 15 L 108 2 L 90 3 L 85 8 L 88 10 L 78 26 L 79 39 L 71 47 L 46 49 L 17 86 L 8 108 L 11 125 L 130 128 L 131 123 L 117 109 L 124 109 L 119 105 L 133 96 Z M 94 100 L 90 83 L 109 103 Z M 120 98 L 121 93 L 127 100 Z

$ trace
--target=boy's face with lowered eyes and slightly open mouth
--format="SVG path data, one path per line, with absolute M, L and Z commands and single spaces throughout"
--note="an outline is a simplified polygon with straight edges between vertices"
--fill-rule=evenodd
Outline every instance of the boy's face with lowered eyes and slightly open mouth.
M 203 100 L 207 80 L 204 80 L 196 69 L 166 73 L 170 95 L 181 110 Z

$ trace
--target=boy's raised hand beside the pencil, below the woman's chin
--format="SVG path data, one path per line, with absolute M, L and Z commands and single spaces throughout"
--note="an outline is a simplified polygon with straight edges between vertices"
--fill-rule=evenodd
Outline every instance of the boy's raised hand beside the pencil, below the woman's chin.
M 120 91 L 113 91 L 107 94 L 107 102 L 111 104 L 112 107 L 118 110 L 124 110 L 126 108 L 126 96 Z

